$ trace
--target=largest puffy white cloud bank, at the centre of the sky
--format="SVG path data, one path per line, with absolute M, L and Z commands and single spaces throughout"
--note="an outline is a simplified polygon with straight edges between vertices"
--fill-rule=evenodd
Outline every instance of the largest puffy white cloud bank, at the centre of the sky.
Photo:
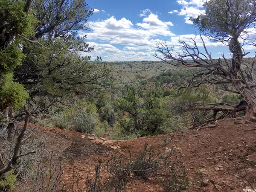
M 149 40 L 157 35 L 166 37 L 175 35 L 169 30 L 169 26 L 173 26 L 172 22 L 163 22 L 154 14 L 143 18 L 143 23 L 136 25 L 126 18 L 117 20 L 113 16 L 90 24 L 92 32 L 86 33 L 88 39 L 98 39 L 130 47 L 151 46 Z M 79 35 L 83 36 L 85 32 L 80 32 Z

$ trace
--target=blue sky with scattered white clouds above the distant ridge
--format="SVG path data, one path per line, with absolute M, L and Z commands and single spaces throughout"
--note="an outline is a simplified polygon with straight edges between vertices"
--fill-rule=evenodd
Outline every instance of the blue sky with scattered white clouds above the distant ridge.
M 86 55 L 92 60 L 101 56 L 103 61 L 159 60 L 153 56 L 157 43 L 166 41 L 169 46 L 176 46 L 183 40 L 191 44 L 190 38 L 199 32 L 189 18 L 204 13 L 203 0 L 87 0 L 87 3 L 94 9 L 89 19 L 91 30 L 80 31 L 79 35 L 87 35 L 87 42 L 94 46 Z M 219 58 L 222 53 L 230 57 L 227 46 L 203 38 L 212 58 Z M 196 40 L 202 49 L 200 37 Z M 254 49 L 245 48 L 246 52 Z

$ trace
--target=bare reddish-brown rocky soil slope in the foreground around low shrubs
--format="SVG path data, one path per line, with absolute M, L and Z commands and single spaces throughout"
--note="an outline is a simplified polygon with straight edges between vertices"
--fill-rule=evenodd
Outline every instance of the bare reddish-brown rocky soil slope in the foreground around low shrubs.
M 188 192 L 217 192 L 256 189 L 256 122 L 248 119 L 224 119 L 215 122 L 216 127 L 201 128 L 183 133 L 142 137 L 135 140 L 114 141 L 65 131 L 60 128 L 40 127 L 36 137 L 45 137 L 46 151 L 53 151 L 56 162 L 62 162 L 64 174 L 62 186 L 70 186 L 74 175 L 81 187 L 87 175 L 93 177 L 99 158 L 102 162 L 113 155 L 128 159 L 143 149 L 145 143 L 154 151 L 166 154 L 175 150 L 183 162 L 190 186 Z M 30 127 L 35 125 L 30 124 Z M 105 164 L 102 174 L 108 175 Z M 202 181 L 207 186 L 202 186 Z M 153 178 L 128 179 L 126 191 L 162 192 Z

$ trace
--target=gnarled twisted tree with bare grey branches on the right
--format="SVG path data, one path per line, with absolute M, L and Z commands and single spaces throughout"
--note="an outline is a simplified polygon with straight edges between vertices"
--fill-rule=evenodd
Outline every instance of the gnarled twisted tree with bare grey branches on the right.
M 198 87 L 202 84 L 218 85 L 221 90 L 241 95 L 247 102 L 247 115 L 256 116 L 256 80 L 253 76 L 253 67 L 256 56 L 250 64 L 244 63 L 244 44 L 256 46 L 253 33 L 256 22 L 255 0 L 210 0 L 205 3 L 206 14 L 194 19 L 204 35 L 200 38 L 191 38 L 192 42 L 179 41 L 178 45 L 169 47 L 167 42 L 160 42 L 155 50 L 155 57 L 177 67 L 192 67 L 201 69 L 194 73 L 192 80 L 186 87 Z M 205 39 L 222 42 L 229 47 L 232 59 L 212 59 L 207 50 Z M 243 40 L 241 44 L 239 40 Z M 198 41 L 201 45 L 198 46 Z M 175 48 L 182 48 L 181 52 Z M 159 56 L 157 53 L 160 53 Z M 176 61 L 176 62 L 174 62 Z M 177 62 L 178 61 L 178 62 Z M 244 66 L 244 67 L 243 67 Z M 225 105 L 204 106 L 204 110 L 218 108 L 227 113 L 230 108 Z M 202 110 L 203 110 L 202 108 Z M 233 111 L 238 110 L 233 108 Z

